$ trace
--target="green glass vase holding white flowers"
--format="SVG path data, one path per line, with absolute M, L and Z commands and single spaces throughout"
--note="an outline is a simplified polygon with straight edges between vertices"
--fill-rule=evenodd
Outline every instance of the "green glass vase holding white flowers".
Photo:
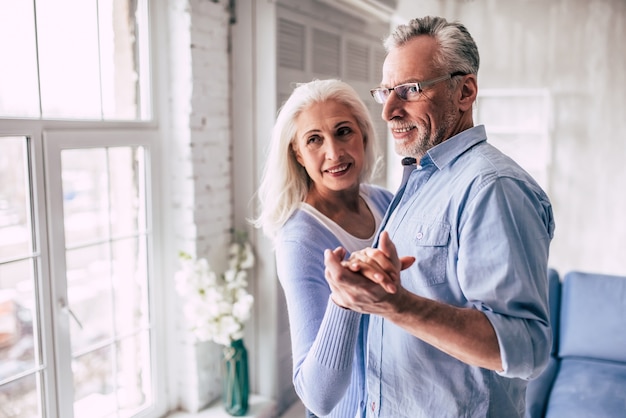
M 236 340 L 222 350 L 222 404 L 234 417 L 248 412 L 248 351 L 243 340 Z

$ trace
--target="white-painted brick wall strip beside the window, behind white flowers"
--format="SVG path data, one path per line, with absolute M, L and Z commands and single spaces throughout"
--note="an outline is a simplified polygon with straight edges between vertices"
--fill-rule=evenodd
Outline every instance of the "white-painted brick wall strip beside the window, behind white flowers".
M 169 0 L 168 19 L 175 241 L 220 269 L 233 224 L 228 1 Z M 179 403 L 197 412 L 219 397 L 220 350 L 178 323 Z

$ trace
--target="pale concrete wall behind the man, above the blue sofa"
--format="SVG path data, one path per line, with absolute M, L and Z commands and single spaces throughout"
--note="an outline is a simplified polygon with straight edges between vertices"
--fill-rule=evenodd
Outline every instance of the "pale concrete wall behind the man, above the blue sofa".
M 468 27 L 481 53 L 480 88 L 551 94 L 551 266 L 625 275 L 626 2 L 399 2 L 399 22 L 428 14 Z

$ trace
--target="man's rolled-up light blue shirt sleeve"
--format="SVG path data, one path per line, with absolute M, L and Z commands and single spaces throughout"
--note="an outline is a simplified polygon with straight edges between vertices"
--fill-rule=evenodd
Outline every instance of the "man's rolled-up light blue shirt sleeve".
M 459 283 L 468 302 L 485 313 L 496 332 L 502 376 L 530 379 L 547 364 L 552 229 L 545 194 L 508 177 L 481 185 L 463 214 Z

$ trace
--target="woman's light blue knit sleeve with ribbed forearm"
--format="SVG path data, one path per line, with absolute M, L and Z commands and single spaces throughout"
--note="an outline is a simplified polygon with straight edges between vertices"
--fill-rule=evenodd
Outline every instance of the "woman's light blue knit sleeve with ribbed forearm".
M 330 299 L 323 252 L 331 247 L 306 234 L 306 229 L 299 235 L 276 247 L 277 272 L 289 313 L 293 383 L 308 409 L 328 415 L 351 384 L 362 315 Z

